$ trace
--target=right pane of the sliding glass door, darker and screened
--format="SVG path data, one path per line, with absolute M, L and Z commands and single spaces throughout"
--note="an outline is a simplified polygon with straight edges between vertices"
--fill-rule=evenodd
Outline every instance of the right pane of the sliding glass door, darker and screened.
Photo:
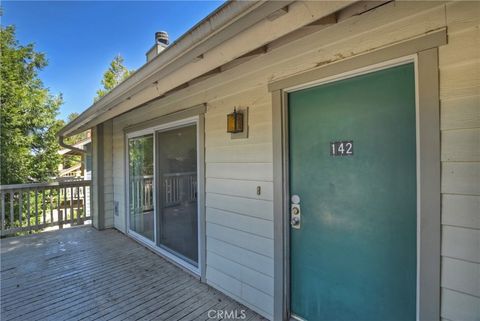
M 196 265 L 197 129 L 157 133 L 157 177 L 160 246 Z

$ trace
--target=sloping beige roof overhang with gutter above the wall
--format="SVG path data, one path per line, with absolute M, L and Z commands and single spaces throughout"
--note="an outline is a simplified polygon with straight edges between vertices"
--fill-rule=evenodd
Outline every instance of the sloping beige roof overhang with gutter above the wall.
M 299 16 L 301 19 L 297 17 L 297 19 L 282 21 L 282 15 L 289 12 L 289 5 L 293 2 L 295 1 L 262 0 L 229 1 L 223 4 L 162 51 L 157 57 L 146 63 L 124 82 L 80 114 L 75 120 L 63 127 L 58 135 L 62 138 L 78 134 L 108 119 L 161 98 L 169 90 L 182 85 L 180 80 L 176 83 L 171 81 L 169 76 L 175 74 L 175 72 L 182 72 L 182 67 L 187 65 L 192 66 L 192 64 L 196 64 L 196 66 L 199 66 L 202 63 L 206 64 L 209 51 L 217 46 L 221 46 L 235 35 L 261 21 L 269 20 L 267 22 L 272 24 L 264 26 L 265 28 L 282 26 L 280 28 L 281 32 L 272 32 L 271 39 L 265 39 L 265 42 L 268 43 L 274 40 L 275 37 L 278 38 L 288 34 L 296 28 L 332 14 L 355 1 L 297 3 L 296 10 L 303 12 L 303 15 Z M 311 7 L 305 9 L 308 6 Z M 308 14 L 305 14 L 305 11 L 308 11 Z M 292 24 L 290 29 L 285 26 L 285 22 Z M 235 52 L 235 55 L 229 56 L 228 59 L 231 61 L 241 57 L 246 52 L 257 49 L 262 41 L 263 39 L 258 39 L 251 44 L 246 43 L 243 46 L 244 48 L 241 48 L 242 50 L 238 50 L 238 52 Z M 210 60 L 208 68 L 213 69 L 215 68 L 215 63 L 218 63 L 216 67 L 219 67 L 226 62 L 228 61 L 213 59 Z M 202 71 L 202 68 L 199 67 L 190 68 L 180 79 L 183 79 L 184 83 L 207 71 L 209 70 Z

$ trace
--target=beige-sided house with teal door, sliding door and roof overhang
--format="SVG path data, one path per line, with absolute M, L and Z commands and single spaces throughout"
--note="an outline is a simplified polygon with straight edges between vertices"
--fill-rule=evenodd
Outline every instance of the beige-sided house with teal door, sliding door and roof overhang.
M 225 3 L 60 132 L 92 130 L 93 225 L 270 320 L 480 320 L 479 26 Z

